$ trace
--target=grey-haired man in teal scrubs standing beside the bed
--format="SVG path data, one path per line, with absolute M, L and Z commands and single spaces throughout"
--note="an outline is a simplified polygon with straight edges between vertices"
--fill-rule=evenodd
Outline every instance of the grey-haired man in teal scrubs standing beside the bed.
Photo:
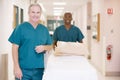
M 39 24 L 41 11 L 39 4 L 31 4 L 29 21 L 18 25 L 8 39 L 16 80 L 42 80 L 44 53 L 52 48 L 52 40 L 47 28 Z

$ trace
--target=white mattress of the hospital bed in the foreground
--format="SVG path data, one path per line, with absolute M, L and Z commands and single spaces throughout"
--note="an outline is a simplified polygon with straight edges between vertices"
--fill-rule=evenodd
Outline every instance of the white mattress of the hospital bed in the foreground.
M 84 56 L 48 58 L 43 80 L 98 80 L 96 69 Z

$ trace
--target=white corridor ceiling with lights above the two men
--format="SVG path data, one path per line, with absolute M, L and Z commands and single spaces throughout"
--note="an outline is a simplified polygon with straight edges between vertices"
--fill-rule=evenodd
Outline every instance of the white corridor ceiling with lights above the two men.
M 61 13 L 61 15 L 63 15 L 63 13 L 66 11 L 74 12 L 81 5 L 87 3 L 90 0 L 34 0 L 34 1 L 42 4 L 42 7 L 44 8 L 43 12 L 46 15 L 53 16 L 54 7 L 61 7 L 61 6 L 64 7 Z M 65 2 L 66 5 L 53 5 L 53 2 Z

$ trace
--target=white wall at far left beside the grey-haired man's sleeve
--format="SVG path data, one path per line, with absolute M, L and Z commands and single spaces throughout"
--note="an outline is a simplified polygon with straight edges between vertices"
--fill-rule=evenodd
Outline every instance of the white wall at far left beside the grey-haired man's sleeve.
M 10 4 L 11 2 L 8 0 L 2 0 L 2 2 L 0 2 L 0 6 L 1 6 L 1 21 L 0 21 L 0 44 L 2 46 L 0 46 L 0 54 L 11 54 L 11 49 L 10 49 L 10 44 L 8 43 L 8 36 L 10 34 L 10 32 L 12 31 L 11 27 L 12 27 L 12 4 Z M 12 66 L 12 61 L 11 58 L 9 57 L 9 69 L 8 69 L 8 74 L 13 74 L 12 71 L 10 71 L 10 67 Z M 12 69 L 11 69 L 12 70 Z M 12 77 L 12 75 L 11 75 Z M 12 80 L 12 79 L 11 79 Z

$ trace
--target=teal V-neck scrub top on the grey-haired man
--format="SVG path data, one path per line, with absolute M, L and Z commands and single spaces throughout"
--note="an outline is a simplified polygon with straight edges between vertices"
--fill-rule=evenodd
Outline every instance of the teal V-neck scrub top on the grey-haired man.
M 36 29 L 29 22 L 17 26 L 8 39 L 11 43 L 19 45 L 18 58 L 21 68 L 44 68 L 44 53 L 36 53 L 38 45 L 52 44 L 48 29 L 38 24 Z

